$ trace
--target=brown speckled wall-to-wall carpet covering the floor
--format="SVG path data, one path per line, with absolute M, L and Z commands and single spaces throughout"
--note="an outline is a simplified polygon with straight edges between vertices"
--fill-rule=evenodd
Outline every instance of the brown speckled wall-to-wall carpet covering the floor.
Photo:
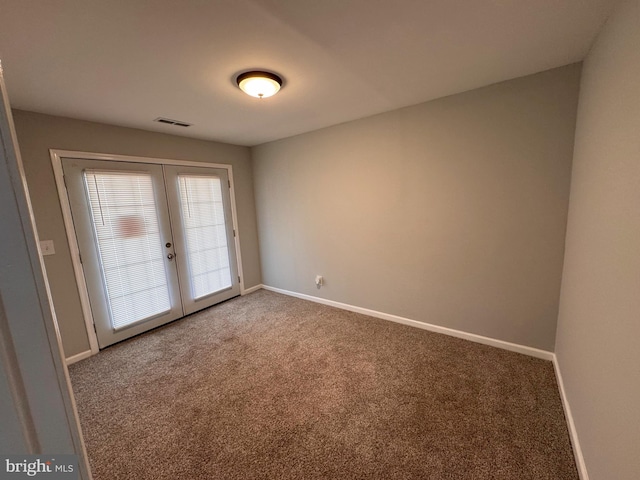
M 70 371 L 95 480 L 578 478 L 550 362 L 272 292 Z

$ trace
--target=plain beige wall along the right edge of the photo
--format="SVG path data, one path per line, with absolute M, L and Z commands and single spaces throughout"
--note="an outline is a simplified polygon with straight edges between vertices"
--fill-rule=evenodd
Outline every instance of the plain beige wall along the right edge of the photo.
M 556 354 L 591 480 L 640 478 L 640 1 L 584 63 Z

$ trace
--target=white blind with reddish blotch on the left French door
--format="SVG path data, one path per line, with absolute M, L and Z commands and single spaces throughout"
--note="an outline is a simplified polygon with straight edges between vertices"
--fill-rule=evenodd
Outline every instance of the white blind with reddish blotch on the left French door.
M 151 175 L 85 170 L 114 330 L 171 309 Z

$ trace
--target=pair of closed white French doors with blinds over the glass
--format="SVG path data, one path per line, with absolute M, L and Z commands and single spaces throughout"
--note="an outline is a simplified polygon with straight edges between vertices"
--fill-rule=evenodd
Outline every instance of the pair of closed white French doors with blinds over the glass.
M 62 167 L 100 348 L 239 295 L 225 169 Z

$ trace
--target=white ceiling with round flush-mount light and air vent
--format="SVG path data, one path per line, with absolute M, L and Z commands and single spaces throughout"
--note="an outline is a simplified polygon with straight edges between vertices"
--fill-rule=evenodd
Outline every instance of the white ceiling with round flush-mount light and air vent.
M 580 61 L 614 3 L 0 0 L 0 58 L 15 108 L 257 145 Z

